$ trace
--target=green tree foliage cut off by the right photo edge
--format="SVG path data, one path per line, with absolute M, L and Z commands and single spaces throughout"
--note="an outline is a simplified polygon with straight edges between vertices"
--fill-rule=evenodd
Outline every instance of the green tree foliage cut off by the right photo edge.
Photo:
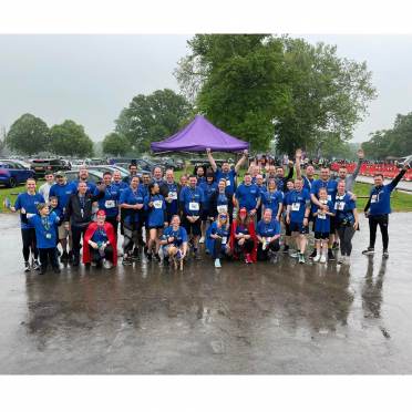
M 367 156 L 375 159 L 412 154 L 412 112 L 398 114 L 392 128 L 371 133 L 371 138 L 362 143 L 362 147 Z

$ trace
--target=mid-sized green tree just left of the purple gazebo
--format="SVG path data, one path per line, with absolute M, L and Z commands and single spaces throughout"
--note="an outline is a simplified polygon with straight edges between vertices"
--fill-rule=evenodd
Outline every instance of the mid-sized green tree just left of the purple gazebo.
M 125 136 L 140 152 L 150 144 L 176 133 L 189 120 L 192 106 L 187 100 L 169 89 L 150 95 L 138 94 L 122 110 L 115 131 Z

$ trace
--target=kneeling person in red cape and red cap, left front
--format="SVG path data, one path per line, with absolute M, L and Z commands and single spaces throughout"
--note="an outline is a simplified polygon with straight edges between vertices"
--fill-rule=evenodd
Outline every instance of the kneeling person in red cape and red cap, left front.
M 99 210 L 84 235 L 83 264 L 111 269 L 117 265 L 117 245 L 113 226 L 105 222 L 106 214 Z

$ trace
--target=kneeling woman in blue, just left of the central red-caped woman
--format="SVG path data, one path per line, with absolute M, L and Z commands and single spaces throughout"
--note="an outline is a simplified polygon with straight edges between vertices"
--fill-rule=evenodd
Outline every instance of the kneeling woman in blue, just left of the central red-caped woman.
M 206 247 L 215 259 L 215 268 L 222 268 L 220 259 L 230 254 L 230 247 L 228 245 L 229 233 L 228 214 L 220 213 L 217 220 L 207 230 Z

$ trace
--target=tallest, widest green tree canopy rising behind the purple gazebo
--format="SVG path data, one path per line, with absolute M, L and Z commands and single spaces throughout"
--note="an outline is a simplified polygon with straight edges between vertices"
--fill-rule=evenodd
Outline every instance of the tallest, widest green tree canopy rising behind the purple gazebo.
M 271 141 L 292 154 L 318 150 L 325 134 L 351 138 L 375 97 L 365 63 L 334 45 L 268 34 L 197 34 L 175 71 L 198 112 L 255 151 Z

